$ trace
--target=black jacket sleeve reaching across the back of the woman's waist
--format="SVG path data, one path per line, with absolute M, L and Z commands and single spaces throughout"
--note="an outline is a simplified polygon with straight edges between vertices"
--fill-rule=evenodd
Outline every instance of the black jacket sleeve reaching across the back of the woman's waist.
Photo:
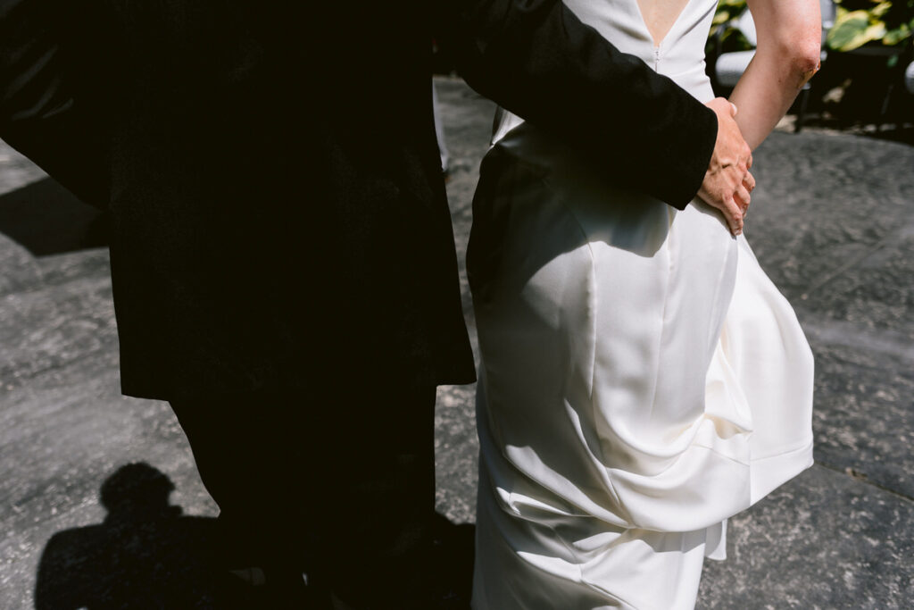
M 684 209 L 717 118 L 559 0 L 441 0 L 438 36 L 473 89 L 571 144 L 608 175 Z

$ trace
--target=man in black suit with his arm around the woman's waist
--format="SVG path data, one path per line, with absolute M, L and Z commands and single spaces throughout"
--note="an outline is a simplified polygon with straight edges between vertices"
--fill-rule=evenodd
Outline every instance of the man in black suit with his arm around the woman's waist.
M 171 402 L 271 607 L 303 570 L 314 607 L 433 607 L 435 387 L 473 381 L 433 35 L 611 176 L 741 221 L 729 104 L 558 0 L 0 0 L 0 137 L 110 212 L 122 391 Z

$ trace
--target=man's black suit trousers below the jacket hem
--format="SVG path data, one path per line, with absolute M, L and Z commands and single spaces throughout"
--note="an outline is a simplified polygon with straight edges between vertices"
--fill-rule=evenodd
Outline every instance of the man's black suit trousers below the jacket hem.
M 328 387 L 171 401 L 226 556 L 354 608 L 429 607 L 435 388 Z

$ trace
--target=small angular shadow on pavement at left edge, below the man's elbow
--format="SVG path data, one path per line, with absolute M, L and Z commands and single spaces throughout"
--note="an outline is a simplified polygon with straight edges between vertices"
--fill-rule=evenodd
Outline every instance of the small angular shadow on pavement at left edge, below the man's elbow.
M 48 256 L 108 245 L 108 217 L 44 178 L 0 196 L 0 233 Z

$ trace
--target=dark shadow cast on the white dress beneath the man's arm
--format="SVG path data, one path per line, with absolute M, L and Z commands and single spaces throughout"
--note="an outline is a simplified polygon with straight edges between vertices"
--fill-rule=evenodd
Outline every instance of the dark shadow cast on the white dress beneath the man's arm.
M 592 242 L 651 258 L 669 232 L 669 209 L 611 181 L 590 155 L 522 123 L 480 166 L 467 249 L 473 300 L 479 306 L 495 293 L 518 294 L 549 262 Z

